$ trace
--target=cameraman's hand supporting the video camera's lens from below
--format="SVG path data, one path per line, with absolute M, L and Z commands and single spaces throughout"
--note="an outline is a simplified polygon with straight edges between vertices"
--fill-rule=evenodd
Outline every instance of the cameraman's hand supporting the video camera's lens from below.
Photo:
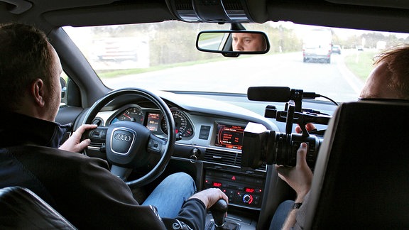
M 310 191 L 312 171 L 307 165 L 307 144 L 301 143 L 297 150 L 297 164 L 293 168 L 276 165 L 278 176 L 297 192 L 296 202 L 302 202 Z

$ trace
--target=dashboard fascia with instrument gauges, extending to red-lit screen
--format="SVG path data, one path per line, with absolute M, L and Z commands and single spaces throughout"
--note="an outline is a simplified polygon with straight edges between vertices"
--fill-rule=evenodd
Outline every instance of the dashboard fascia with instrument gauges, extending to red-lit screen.
M 175 133 L 178 134 L 177 145 L 227 150 L 234 153 L 241 151 L 244 128 L 249 121 L 239 117 L 229 118 L 186 111 L 172 103 L 168 103 L 168 106 L 175 121 Z M 168 126 L 155 104 L 136 101 L 114 107 L 115 109 L 100 111 L 92 123 L 109 126 L 117 121 L 136 122 L 146 126 L 156 136 L 166 138 Z

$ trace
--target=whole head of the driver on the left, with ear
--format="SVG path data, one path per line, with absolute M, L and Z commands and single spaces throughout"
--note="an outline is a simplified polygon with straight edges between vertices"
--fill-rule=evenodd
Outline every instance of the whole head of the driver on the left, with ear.
M 62 67 L 45 33 L 19 23 L 0 24 L 0 44 L 3 109 L 54 121 Z

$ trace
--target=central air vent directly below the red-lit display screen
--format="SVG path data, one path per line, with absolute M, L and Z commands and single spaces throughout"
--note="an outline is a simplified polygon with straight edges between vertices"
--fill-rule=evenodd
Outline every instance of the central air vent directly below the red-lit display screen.
M 207 149 L 205 152 L 205 161 L 241 167 L 241 154 Z M 266 171 L 266 164 L 261 165 L 259 168 L 257 168 L 257 170 Z

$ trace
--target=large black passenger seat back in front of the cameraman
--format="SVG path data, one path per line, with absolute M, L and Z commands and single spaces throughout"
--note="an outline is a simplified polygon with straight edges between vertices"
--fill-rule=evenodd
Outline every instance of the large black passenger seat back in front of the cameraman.
M 409 104 L 342 104 L 315 166 L 307 229 L 409 229 Z

